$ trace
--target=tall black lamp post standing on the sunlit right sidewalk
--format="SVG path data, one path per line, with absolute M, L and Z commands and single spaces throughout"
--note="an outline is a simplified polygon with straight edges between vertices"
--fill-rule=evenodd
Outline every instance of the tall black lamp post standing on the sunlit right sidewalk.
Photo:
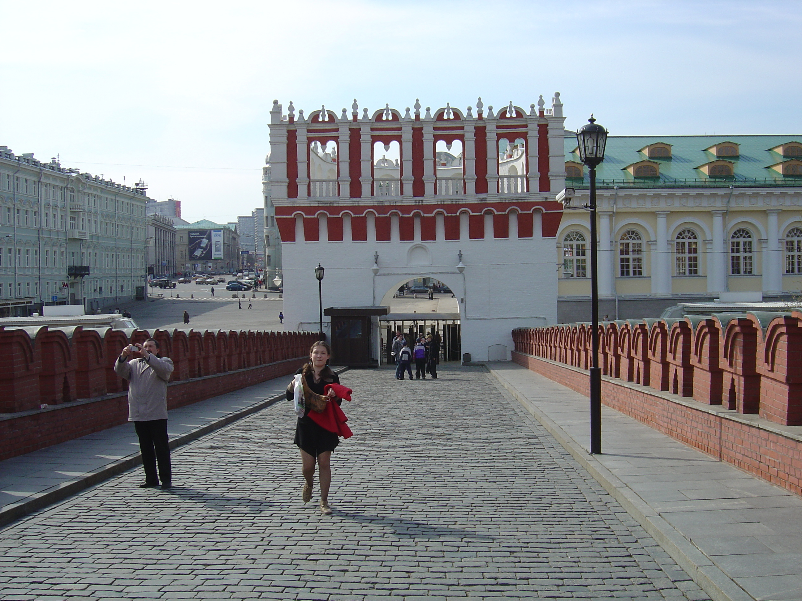
M 596 124 L 590 115 L 589 123 L 577 131 L 579 159 L 588 166 L 590 178 L 590 453 L 602 454 L 602 368 L 599 367 L 599 286 L 596 252 L 596 166 L 604 160 L 607 130 Z

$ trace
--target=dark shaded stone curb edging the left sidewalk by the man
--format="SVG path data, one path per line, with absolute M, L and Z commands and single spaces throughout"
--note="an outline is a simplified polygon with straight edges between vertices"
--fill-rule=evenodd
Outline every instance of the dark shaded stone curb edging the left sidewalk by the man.
M 340 374 L 347 370 L 348 368 L 345 367 L 334 369 L 334 372 Z M 201 436 L 204 436 L 205 434 L 209 434 L 215 430 L 220 430 L 221 428 L 228 426 L 233 422 L 241 420 L 243 417 L 248 417 L 252 413 L 261 411 L 261 409 L 266 409 L 270 405 L 275 405 L 278 401 L 282 401 L 284 398 L 284 393 L 265 398 L 262 401 L 250 405 L 249 407 L 245 407 L 245 409 L 228 413 L 223 417 L 218 417 L 216 420 L 204 424 L 203 426 L 199 426 L 193 430 L 184 432 L 184 434 L 179 434 L 178 436 L 170 439 L 170 449 L 176 449 L 177 447 L 183 446 L 188 442 L 192 442 L 197 438 L 201 438 Z M 95 471 L 87 472 L 87 474 L 84 474 L 80 478 L 75 478 L 75 480 L 70 480 L 69 482 L 62 482 L 50 490 L 45 490 L 42 493 L 34 494 L 25 501 L 6 506 L 0 510 L 0 527 L 6 526 L 7 524 L 18 520 L 19 518 L 24 518 L 26 515 L 32 514 L 34 511 L 43 509 L 44 507 L 52 505 L 55 502 L 63 501 L 63 499 L 70 497 L 81 490 L 87 489 L 90 486 L 95 486 L 95 484 L 99 484 L 100 482 L 116 476 L 117 474 L 122 474 L 123 472 L 130 470 L 132 467 L 139 466 L 141 463 L 142 455 L 138 452 L 132 453 L 128 455 L 128 457 L 118 459 L 115 462 L 107 463 L 105 466 L 100 467 Z

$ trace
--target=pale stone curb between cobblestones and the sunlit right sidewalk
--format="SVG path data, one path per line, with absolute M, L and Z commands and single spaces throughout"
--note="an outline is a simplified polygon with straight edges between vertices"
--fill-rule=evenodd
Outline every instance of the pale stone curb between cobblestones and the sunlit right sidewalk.
M 601 462 L 597 461 L 588 450 L 577 444 L 556 422 L 542 413 L 537 406 L 529 401 L 518 389 L 504 381 L 496 370 L 485 365 L 492 377 L 501 387 L 515 398 L 524 408 L 532 413 L 533 417 L 541 423 L 549 434 L 557 439 L 565 450 L 581 464 L 589 474 L 596 479 L 621 506 L 635 518 L 644 530 L 671 556 L 671 559 L 682 567 L 695 583 L 702 587 L 713 601 L 755 601 L 743 588 L 739 587 L 727 576 L 712 559 L 704 555 L 690 540 L 680 534 L 678 530 L 666 522 L 648 503 L 646 503 L 634 490 L 626 486 Z

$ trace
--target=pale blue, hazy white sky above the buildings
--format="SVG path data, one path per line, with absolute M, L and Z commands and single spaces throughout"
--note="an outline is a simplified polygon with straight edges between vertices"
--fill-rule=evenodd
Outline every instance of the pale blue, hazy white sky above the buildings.
M 175 198 L 262 204 L 273 99 L 528 108 L 610 135 L 799 135 L 799 0 L 7 2 L 0 145 Z

